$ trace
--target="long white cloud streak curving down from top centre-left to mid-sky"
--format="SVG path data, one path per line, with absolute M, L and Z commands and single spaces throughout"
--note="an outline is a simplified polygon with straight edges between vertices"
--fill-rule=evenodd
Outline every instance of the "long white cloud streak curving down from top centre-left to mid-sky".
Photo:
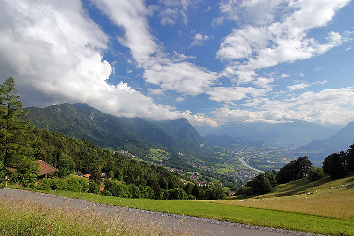
M 184 9 L 189 1 L 183 2 L 181 5 Z M 166 1 L 164 4 L 173 6 L 179 3 Z M 102 0 L 97 2 L 97 6 L 112 22 L 125 29 L 120 41 L 131 50 L 138 66 L 144 69 L 143 78 L 148 83 L 158 85 L 163 90 L 195 96 L 203 93 L 205 88 L 217 80 L 216 73 L 182 61 L 183 56 L 184 59 L 189 59 L 185 55 L 175 53 L 171 56 L 162 52 L 157 40 L 148 30 L 148 10 L 141 1 Z M 176 55 L 178 60 L 175 59 Z

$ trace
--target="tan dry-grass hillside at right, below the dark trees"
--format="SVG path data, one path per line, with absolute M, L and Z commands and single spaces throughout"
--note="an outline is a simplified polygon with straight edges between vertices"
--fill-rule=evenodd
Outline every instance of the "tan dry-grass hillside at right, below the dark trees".
M 342 187 L 346 184 L 350 187 Z M 313 194 L 307 194 L 309 192 Z M 301 179 L 280 185 L 257 198 L 215 202 L 354 221 L 354 177 L 351 175 L 339 180 L 324 177 L 315 182 Z

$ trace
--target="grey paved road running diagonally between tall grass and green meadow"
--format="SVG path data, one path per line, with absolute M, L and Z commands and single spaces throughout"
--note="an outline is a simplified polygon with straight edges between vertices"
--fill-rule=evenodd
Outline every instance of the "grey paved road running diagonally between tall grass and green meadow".
M 117 208 L 116 206 L 104 205 L 104 204 L 95 204 L 93 202 L 78 200 L 78 199 L 70 199 L 70 198 L 62 198 L 58 196 L 54 196 L 51 194 L 39 194 L 35 192 L 29 192 L 26 190 L 18 190 L 18 189 L 0 189 L 0 196 L 6 196 L 10 198 L 18 199 L 18 201 L 26 202 L 28 200 L 39 201 L 42 202 L 45 206 L 55 208 L 61 207 L 63 205 L 71 207 L 72 209 L 89 209 L 95 210 L 95 212 L 101 212 L 105 214 L 113 214 L 119 211 L 124 217 L 132 218 L 132 219 L 144 219 L 150 222 L 164 224 L 164 226 L 168 228 L 180 229 L 185 232 L 192 233 L 193 235 L 215 235 L 215 236 L 295 236 L 295 235 L 306 235 L 306 233 L 295 233 L 295 232 L 286 232 L 281 230 L 273 229 L 273 231 L 269 230 L 261 230 L 254 229 L 254 226 L 245 226 L 239 225 L 235 226 L 235 224 L 225 224 L 225 222 L 210 223 L 207 222 L 207 219 L 202 221 L 195 220 L 193 217 L 181 217 L 181 216 L 166 216 L 162 215 L 159 212 L 147 212 L 147 211 L 134 211 L 129 208 Z M 0 199 L 1 202 L 1 199 Z M 213 221 L 213 220 L 212 220 Z M 214 221 L 213 221 L 214 222 Z M 224 224 L 223 224 L 224 223 Z M 245 227 L 252 227 L 245 228 Z M 259 227 L 261 228 L 261 227 Z M 271 230 L 271 229 L 270 229 Z

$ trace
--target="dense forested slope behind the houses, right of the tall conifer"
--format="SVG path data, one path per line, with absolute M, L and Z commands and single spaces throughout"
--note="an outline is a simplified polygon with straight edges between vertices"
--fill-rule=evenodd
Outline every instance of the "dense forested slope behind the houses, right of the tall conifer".
M 74 170 L 82 173 L 92 173 L 98 164 L 100 171 L 111 177 L 124 180 L 132 176 L 134 179 L 160 181 L 164 179 L 170 186 L 180 185 L 180 175 L 169 172 L 163 167 L 151 166 L 146 162 L 132 160 L 127 156 L 104 150 L 87 140 L 78 140 L 59 132 L 50 132 L 36 128 L 33 131 L 36 159 L 51 163 L 60 171 L 62 159 L 73 160 Z

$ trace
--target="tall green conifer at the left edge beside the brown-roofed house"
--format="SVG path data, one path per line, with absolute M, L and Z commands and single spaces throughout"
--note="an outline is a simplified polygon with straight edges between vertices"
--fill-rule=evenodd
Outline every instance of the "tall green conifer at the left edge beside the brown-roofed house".
M 5 167 L 15 168 L 28 158 L 34 161 L 29 137 L 33 127 L 29 120 L 21 120 L 29 111 L 22 110 L 16 94 L 14 79 L 9 77 L 0 86 L 0 156 Z

